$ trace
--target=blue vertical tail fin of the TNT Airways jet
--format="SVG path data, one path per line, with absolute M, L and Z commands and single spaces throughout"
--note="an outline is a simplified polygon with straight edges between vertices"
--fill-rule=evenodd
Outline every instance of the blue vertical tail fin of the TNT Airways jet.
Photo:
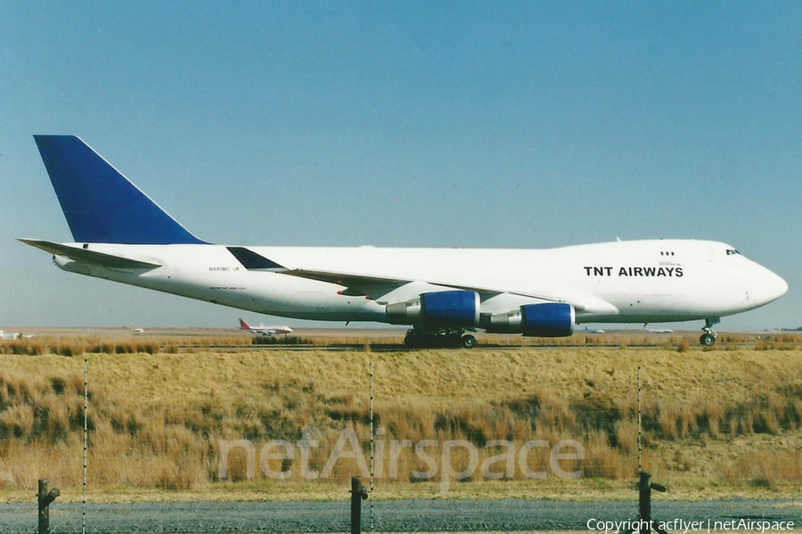
M 34 136 L 75 242 L 205 243 L 76 136 Z

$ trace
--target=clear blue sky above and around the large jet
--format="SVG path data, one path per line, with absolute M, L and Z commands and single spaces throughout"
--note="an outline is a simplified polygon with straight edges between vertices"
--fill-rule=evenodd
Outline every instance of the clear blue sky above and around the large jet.
M 790 284 L 722 330 L 802 325 L 802 4 L 496 4 L 0 0 L 0 325 L 240 315 L 14 241 L 71 240 L 38 133 L 209 241 L 714 239 Z

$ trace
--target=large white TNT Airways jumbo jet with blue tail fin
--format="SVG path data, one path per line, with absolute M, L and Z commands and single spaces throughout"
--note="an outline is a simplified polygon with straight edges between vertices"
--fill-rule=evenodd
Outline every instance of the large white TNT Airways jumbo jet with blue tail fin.
M 559 337 L 583 323 L 704 320 L 765 306 L 782 278 L 723 242 L 547 250 L 228 246 L 201 241 L 76 136 L 34 136 L 75 242 L 20 239 L 70 273 L 272 316 L 410 325 L 408 345 L 470 333 Z

